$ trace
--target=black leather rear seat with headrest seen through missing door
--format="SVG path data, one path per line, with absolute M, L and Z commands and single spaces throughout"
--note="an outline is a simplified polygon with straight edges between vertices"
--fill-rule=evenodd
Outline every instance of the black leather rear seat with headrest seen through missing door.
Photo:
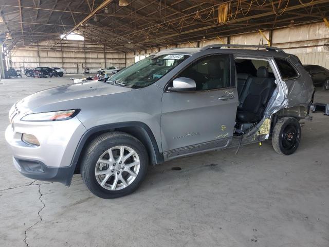
M 257 77 L 252 77 L 250 86 L 243 92 L 246 97 L 237 112 L 237 121 L 241 123 L 260 121 L 274 89 L 275 79 L 268 77 L 266 67 L 259 67 Z

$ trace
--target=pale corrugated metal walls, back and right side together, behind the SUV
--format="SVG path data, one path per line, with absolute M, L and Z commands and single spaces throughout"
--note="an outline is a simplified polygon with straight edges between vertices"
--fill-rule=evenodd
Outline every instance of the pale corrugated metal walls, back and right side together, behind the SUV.
M 264 30 L 263 33 L 269 38 L 269 31 Z M 64 67 L 67 69 L 67 73 L 77 73 L 78 64 L 82 63 L 83 67 L 89 67 L 92 73 L 95 73 L 100 67 L 105 67 L 105 65 L 107 67 L 129 66 L 135 61 L 139 61 L 159 50 L 174 47 L 203 47 L 211 44 L 223 44 L 223 42 L 227 42 L 226 37 L 167 45 L 159 48 L 126 52 L 124 54 L 124 52 L 104 49 L 104 46 L 101 45 L 78 41 L 64 41 L 62 50 L 42 50 L 43 47 L 49 47 L 51 42 L 48 41 L 38 44 L 39 51 L 38 47 L 13 50 L 12 62 L 16 67 Z M 230 42 L 231 44 L 267 45 L 266 39 L 264 39 L 260 32 L 231 36 Z M 329 51 L 323 48 L 323 44 L 325 43 L 329 43 L 329 28 L 324 23 L 272 31 L 272 46 L 283 48 L 287 53 L 297 55 L 304 64 L 318 64 L 329 68 Z

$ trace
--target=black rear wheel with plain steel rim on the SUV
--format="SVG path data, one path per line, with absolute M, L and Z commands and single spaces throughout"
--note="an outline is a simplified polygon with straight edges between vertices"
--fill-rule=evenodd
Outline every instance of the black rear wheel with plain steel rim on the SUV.
M 300 143 L 301 128 L 294 117 L 283 117 L 276 123 L 272 133 L 274 150 L 282 155 L 293 154 Z

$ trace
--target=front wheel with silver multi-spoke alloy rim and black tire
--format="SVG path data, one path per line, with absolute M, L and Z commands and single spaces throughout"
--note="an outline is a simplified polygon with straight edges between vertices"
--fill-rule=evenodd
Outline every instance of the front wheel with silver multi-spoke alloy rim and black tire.
M 135 191 L 148 170 L 148 153 L 134 136 L 105 133 L 88 146 L 81 163 L 81 177 L 94 195 L 112 199 Z

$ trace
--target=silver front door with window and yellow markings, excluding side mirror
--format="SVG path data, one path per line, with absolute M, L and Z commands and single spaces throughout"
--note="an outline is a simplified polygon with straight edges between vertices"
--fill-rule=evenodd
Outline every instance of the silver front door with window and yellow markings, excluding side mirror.
M 165 158 L 225 147 L 233 136 L 239 104 L 230 55 L 201 58 L 178 77 L 193 79 L 196 91 L 163 93 L 161 134 Z

